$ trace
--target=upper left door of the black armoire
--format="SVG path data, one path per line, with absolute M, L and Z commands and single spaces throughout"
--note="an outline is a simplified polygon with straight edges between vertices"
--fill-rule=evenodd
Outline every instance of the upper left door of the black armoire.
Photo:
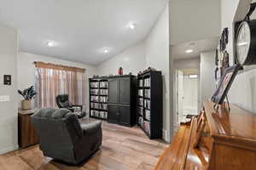
M 108 103 L 117 104 L 119 101 L 119 79 L 111 79 L 109 80 Z

